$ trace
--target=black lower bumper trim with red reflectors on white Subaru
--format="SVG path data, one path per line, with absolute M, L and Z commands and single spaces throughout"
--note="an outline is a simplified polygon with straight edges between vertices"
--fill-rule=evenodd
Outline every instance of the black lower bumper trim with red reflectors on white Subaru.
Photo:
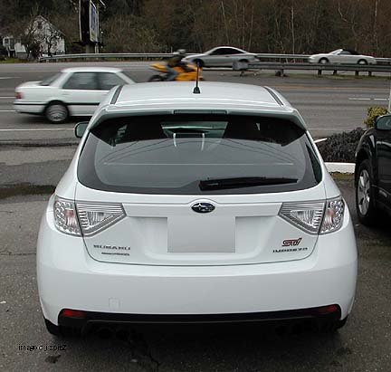
M 196 324 L 196 323 L 233 323 L 233 322 L 258 322 L 280 320 L 311 320 L 327 319 L 339 320 L 341 310 L 335 305 L 334 310 L 324 311 L 328 306 L 321 308 L 309 308 L 300 310 L 281 310 L 267 312 L 247 312 L 234 314 L 122 314 L 113 312 L 83 311 L 83 318 L 72 318 L 59 315 L 58 323 L 64 327 L 82 329 L 88 323 L 101 324 Z M 62 310 L 63 311 L 63 310 Z

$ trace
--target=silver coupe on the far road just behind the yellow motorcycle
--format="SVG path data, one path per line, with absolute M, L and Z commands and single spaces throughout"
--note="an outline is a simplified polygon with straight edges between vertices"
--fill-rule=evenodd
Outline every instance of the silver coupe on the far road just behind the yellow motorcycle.
M 232 67 L 234 62 L 258 62 L 256 53 L 246 52 L 232 46 L 218 46 L 203 54 L 194 54 L 184 61 L 199 64 L 200 67 Z

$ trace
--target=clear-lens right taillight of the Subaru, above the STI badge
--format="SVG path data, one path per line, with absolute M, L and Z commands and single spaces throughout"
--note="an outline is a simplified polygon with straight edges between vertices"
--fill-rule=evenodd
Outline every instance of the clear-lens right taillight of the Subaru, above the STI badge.
M 279 215 L 309 234 L 329 234 L 340 229 L 344 212 L 339 196 L 326 202 L 283 203 Z

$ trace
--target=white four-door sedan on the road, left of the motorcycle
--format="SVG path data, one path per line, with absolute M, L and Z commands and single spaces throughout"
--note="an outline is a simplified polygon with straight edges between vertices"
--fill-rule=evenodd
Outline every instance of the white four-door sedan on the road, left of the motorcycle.
M 28 81 L 16 87 L 14 110 L 62 123 L 71 116 L 92 116 L 111 88 L 133 83 L 119 69 L 69 68 L 43 81 Z

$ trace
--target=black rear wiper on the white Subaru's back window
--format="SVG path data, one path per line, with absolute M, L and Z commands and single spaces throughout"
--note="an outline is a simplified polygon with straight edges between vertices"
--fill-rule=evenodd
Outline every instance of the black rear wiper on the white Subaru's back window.
M 201 191 L 205 190 L 221 190 L 224 188 L 252 187 L 252 186 L 268 186 L 268 185 L 283 185 L 295 184 L 297 178 L 287 177 L 236 177 L 236 178 L 211 178 L 199 182 Z

